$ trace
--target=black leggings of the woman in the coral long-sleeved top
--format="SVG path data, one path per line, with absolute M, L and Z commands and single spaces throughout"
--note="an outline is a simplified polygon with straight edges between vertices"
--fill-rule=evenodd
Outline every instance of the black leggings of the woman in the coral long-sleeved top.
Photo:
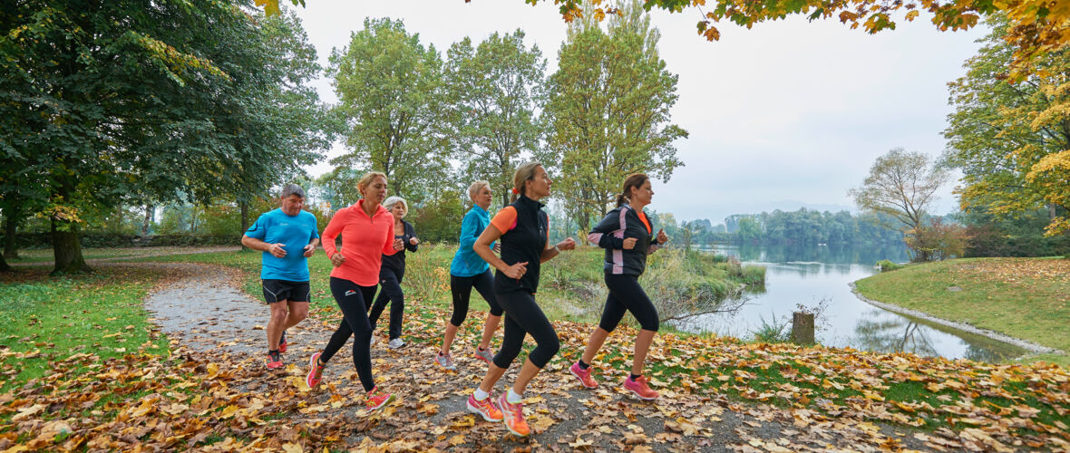
M 337 277 L 331 278 L 331 294 L 334 295 L 338 308 L 341 309 L 342 319 L 338 329 L 331 335 L 331 341 L 323 348 L 320 361 L 326 363 L 340 349 L 349 337 L 353 335 L 353 366 L 361 377 L 364 391 L 370 392 L 376 388 L 374 378 L 371 376 L 371 324 L 368 323 L 368 310 L 366 300 L 371 300 L 376 295 L 376 285 L 361 286 L 346 279 Z

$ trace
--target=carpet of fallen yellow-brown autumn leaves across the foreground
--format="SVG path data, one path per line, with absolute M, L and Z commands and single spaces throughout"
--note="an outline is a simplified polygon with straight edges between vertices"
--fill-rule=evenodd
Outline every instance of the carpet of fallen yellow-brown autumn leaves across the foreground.
M 566 368 L 591 326 L 567 322 L 555 323 L 561 354 L 526 393 L 534 435 L 523 441 L 506 436 L 503 443 L 500 423 L 463 411 L 485 368 L 459 349 L 475 343 L 482 326 L 467 323 L 455 346 L 460 371 L 443 373 L 428 358 L 446 313 L 416 310 L 406 322 L 408 347 L 373 349 L 380 385 L 402 395 L 382 411 L 357 410 L 363 392 L 345 348 L 319 389 L 304 384 L 306 355 L 300 352 L 322 346 L 338 319 L 336 309 L 319 309 L 306 322 L 308 331 L 291 332 L 291 348 L 299 349 L 288 353 L 290 364 L 280 372 L 223 349 L 194 353 L 174 339 L 170 356 L 57 359 L 51 374 L 0 394 L 0 451 L 688 451 L 724 438 L 740 440 L 727 446 L 738 451 L 910 447 L 887 435 L 887 426 L 911 433 L 902 437 L 914 448 L 1070 449 L 1070 374 L 1054 365 L 661 334 L 648 361 L 662 399 L 643 403 L 614 388 L 630 360 L 635 330 L 611 337 L 596 361 L 603 386 L 582 391 Z M 243 341 L 259 343 L 261 334 Z M 14 359 L 39 354 L 0 349 L 0 374 L 17 366 Z M 916 392 L 890 396 L 889 389 L 904 386 Z M 737 420 L 732 427 L 730 418 Z M 780 426 L 771 436 L 761 429 L 770 422 Z

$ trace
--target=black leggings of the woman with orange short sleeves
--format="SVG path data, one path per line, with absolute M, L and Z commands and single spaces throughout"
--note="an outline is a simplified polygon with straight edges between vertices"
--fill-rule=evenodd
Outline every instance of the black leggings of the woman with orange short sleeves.
M 535 303 L 535 295 L 519 290 L 495 293 L 494 296 L 505 310 L 505 337 L 502 339 L 502 348 L 494 355 L 494 364 L 502 369 L 509 368 L 520 354 L 524 337 L 531 333 L 535 339 L 535 349 L 528 355 L 528 359 L 535 366 L 545 368 L 546 363 L 557 354 L 561 342 L 557 341 L 557 332 L 553 330 L 553 325 Z

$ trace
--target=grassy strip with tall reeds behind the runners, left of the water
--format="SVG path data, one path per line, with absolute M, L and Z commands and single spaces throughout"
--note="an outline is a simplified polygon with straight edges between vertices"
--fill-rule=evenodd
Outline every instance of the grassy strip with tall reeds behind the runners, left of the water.
M 423 306 L 448 309 L 449 263 L 457 246 L 423 246 L 406 257 L 402 288 L 406 300 Z M 602 282 L 602 250 L 581 247 L 565 252 L 542 265 L 539 283 L 539 304 L 550 319 L 595 322 L 606 301 Z M 244 270 L 244 290 L 260 294 L 260 252 L 203 253 L 148 259 L 221 264 Z M 322 251 L 308 262 L 311 274 L 314 303 L 333 307 L 327 280 L 331 263 Z M 651 299 L 660 313 L 716 303 L 749 284 L 764 284 L 765 268 L 719 262 L 703 253 L 685 254 L 679 250 L 662 250 L 651 256 L 642 277 Z M 259 296 L 258 296 L 259 297 Z M 487 310 L 487 302 L 475 296 L 471 300 L 477 310 Z M 626 319 L 630 322 L 631 317 Z

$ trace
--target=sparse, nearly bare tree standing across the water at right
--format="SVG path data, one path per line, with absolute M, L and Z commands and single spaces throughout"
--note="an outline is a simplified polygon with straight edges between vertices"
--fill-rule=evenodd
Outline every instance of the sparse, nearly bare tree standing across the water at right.
M 861 187 L 849 193 L 865 212 L 886 214 L 897 219 L 907 235 L 923 234 L 926 209 L 936 190 L 947 184 L 947 170 L 934 166 L 929 156 L 898 147 L 877 157 Z M 907 238 L 907 246 L 918 244 Z M 927 249 L 914 249 L 916 261 L 929 261 Z

